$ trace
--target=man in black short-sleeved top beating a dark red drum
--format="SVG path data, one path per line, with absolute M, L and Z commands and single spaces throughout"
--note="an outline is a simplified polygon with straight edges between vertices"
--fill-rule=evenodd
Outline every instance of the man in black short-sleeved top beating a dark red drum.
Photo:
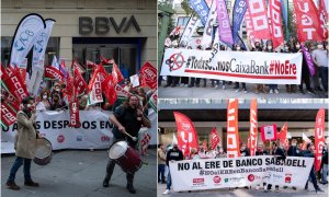
M 114 124 L 113 141 L 126 140 L 128 144 L 136 149 L 138 131 L 143 126 L 150 128 L 151 124 L 144 113 L 143 106 L 139 104 L 139 99 L 136 95 L 128 96 L 121 106 L 116 107 L 110 116 L 110 120 Z M 129 136 L 129 137 L 128 137 Z M 109 187 L 115 160 L 110 159 L 106 166 L 106 176 L 103 181 L 103 187 Z M 135 173 L 126 173 L 127 189 L 129 193 L 135 194 L 136 190 L 133 186 Z

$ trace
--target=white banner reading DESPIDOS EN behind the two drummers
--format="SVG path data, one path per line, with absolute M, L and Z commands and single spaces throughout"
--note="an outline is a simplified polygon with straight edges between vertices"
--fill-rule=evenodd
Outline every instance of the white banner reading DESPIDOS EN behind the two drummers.
M 41 136 L 47 138 L 54 150 L 59 149 L 109 149 L 112 142 L 113 124 L 109 121 L 109 111 L 80 111 L 80 128 L 69 127 L 69 111 L 47 111 L 37 115 L 36 125 Z M 149 109 L 151 128 L 150 144 L 157 143 L 157 114 Z M 1 153 L 14 152 L 14 136 L 18 125 L 1 129 Z

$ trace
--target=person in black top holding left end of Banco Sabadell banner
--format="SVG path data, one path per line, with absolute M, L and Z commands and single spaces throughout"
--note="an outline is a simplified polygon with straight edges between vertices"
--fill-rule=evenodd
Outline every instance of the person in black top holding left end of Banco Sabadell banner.
M 172 149 L 167 152 L 166 164 L 169 169 L 169 162 L 181 161 L 183 159 L 184 159 L 183 152 L 179 150 L 178 144 L 173 144 Z M 163 195 L 170 194 L 170 187 L 171 187 L 171 175 L 170 175 L 170 170 L 168 170 L 167 189 L 162 194 Z

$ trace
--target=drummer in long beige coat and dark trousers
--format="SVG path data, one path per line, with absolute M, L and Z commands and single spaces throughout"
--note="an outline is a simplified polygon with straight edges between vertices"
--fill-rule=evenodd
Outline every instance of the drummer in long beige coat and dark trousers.
M 31 178 L 30 169 L 31 161 L 35 154 L 36 138 L 38 137 L 35 130 L 35 107 L 32 97 L 24 97 L 22 100 L 23 107 L 18 113 L 18 134 L 15 136 L 14 149 L 16 160 L 14 161 L 10 175 L 7 181 L 7 186 L 10 189 L 19 190 L 20 187 L 15 184 L 15 175 L 19 169 L 24 163 L 24 178 L 25 186 L 37 187 L 38 184 L 34 183 Z

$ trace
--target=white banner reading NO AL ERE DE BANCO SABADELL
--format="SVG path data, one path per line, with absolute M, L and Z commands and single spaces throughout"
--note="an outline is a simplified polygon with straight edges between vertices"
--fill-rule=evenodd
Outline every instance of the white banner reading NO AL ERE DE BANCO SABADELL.
M 202 159 L 169 163 L 173 190 L 257 186 L 268 183 L 304 188 L 314 158 L 272 155 Z

